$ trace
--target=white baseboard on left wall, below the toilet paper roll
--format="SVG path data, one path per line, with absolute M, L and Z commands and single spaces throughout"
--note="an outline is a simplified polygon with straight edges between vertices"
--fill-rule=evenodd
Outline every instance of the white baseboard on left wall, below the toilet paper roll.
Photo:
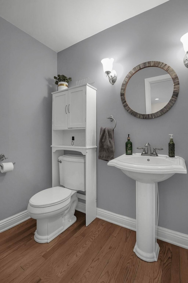
M 1 220 L 0 221 L 0 233 L 20 224 L 21 222 L 26 221 L 29 218 L 30 216 L 28 215 L 28 211 L 24 210 L 18 214 L 15 214 L 11 217 Z

